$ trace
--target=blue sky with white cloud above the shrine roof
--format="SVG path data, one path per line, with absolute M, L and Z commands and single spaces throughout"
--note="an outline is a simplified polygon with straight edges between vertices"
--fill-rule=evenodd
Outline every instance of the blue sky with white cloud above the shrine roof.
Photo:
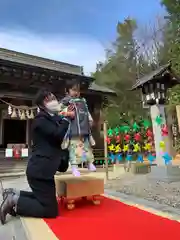
M 140 25 L 163 14 L 159 0 L 0 0 L 0 46 L 93 71 L 127 16 Z

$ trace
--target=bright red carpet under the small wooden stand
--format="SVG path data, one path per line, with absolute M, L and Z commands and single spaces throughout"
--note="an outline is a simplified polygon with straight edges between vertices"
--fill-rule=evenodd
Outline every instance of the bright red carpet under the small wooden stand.
M 61 240 L 179 240 L 180 224 L 104 198 L 100 206 L 79 203 L 60 209 L 61 216 L 45 219 Z

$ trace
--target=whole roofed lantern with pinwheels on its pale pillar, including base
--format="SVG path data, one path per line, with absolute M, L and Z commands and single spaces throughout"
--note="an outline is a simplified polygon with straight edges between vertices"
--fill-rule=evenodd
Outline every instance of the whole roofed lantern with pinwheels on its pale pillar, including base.
M 165 116 L 167 90 L 179 83 L 180 81 L 172 72 L 170 64 L 167 64 L 143 77 L 132 87 L 132 90 L 142 90 L 143 104 L 149 106 L 151 113 L 157 167 L 152 168 L 149 178 L 163 181 L 180 180 L 179 167 L 172 166 L 172 156 L 170 155 L 172 144 Z

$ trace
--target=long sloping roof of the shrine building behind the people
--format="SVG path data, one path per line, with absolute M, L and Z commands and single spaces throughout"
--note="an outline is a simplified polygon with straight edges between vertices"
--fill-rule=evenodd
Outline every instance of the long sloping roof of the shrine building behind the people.
M 35 77 L 35 73 L 35 75 L 37 75 L 36 78 L 39 79 L 39 76 L 41 76 L 42 80 L 46 75 L 52 75 L 50 77 L 52 80 L 57 80 L 57 78 L 58 80 L 78 78 L 79 80 L 89 82 L 88 85 L 90 91 L 108 95 L 116 95 L 113 90 L 95 84 L 94 78 L 84 76 L 83 67 L 78 65 L 0 48 L 0 67 L 2 68 L 3 72 L 13 72 L 17 76 L 20 76 L 20 74 L 22 74 L 22 76 L 26 77 L 26 80 L 27 76 L 31 75 Z M 22 70 L 22 73 L 19 73 L 20 69 Z M 31 73 L 29 73 L 29 71 Z M 22 80 L 20 84 L 21 83 Z M 53 81 L 53 83 L 55 82 Z

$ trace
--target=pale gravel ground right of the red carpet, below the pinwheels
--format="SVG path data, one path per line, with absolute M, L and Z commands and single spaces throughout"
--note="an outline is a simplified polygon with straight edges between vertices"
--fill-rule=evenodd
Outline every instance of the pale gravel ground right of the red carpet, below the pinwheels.
M 180 208 L 180 182 L 167 183 L 147 179 L 146 175 L 127 174 L 109 180 L 105 189 Z

